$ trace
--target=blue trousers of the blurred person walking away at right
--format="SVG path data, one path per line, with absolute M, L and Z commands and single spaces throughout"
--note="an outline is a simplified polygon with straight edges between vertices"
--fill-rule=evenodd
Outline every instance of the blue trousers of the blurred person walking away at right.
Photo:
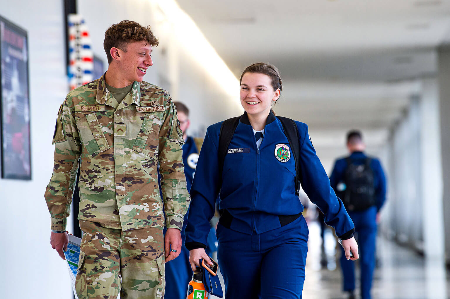
M 361 297 L 370 299 L 370 289 L 375 268 L 375 238 L 377 235 L 376 215 L 377 208 L 370 207 L 360 212 L 348 212 L 351 220 L 355 223 L 355 230 L 358 234 L 358 246 L 361 266 Z M 355 290 L 355 266 L 354 262 L 345 258 L 344 250 L 341 247 L 341 268 L 344 277 L 344 290 Z

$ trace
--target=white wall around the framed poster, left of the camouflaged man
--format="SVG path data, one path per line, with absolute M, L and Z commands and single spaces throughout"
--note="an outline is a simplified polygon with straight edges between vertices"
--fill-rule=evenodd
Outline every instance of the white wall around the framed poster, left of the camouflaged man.
M 71 298 L 66 265 L 50 247 L 44 200 L 52 171 L 55 119 L 68 91 L 62 4 L 17 0 L 1 7 L 2 17 L 28 33 L 32 178 L 0 179 L 2 298 Z

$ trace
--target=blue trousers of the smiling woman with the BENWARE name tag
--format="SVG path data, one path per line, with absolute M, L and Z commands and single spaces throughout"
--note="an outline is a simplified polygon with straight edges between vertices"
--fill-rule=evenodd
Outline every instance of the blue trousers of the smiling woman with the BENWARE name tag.
M 217 226 L 217 259 L 225 298 L 301 299 L 308 227 L 303 216 L 281 228 L 248 235 Z

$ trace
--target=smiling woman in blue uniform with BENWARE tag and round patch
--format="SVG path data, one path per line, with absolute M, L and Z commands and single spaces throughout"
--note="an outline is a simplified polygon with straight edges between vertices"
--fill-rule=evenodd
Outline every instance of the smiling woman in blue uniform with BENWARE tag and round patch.
M 281 78 L 274 66 L 260 62 L 243 71 L 240 83 L 245 112 L 223 166 L 218 159 L 222 122 L 208 127 L 198 158 L 186 227 L 189 262 L 193 269 L 199 259 L 209 262 L 204 248 L 220 192 L 217 259 L 225 298 L 302 298 L 308 227 L 294 187 L 295 159 L 282 123 L 271 110 L 283 89 Z M 303 190 L 343 240 L 347 259 L 355 260 L 353 222 L 330 187 L 307 125 L 295 125 Z

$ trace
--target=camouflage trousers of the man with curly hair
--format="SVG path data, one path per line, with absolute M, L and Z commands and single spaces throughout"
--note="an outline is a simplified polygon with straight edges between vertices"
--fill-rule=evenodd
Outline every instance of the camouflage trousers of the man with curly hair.
M 84 232 L 76 274 L 79 299 L 164 298 L 162 227 L 122 231 L 80 220 Z

